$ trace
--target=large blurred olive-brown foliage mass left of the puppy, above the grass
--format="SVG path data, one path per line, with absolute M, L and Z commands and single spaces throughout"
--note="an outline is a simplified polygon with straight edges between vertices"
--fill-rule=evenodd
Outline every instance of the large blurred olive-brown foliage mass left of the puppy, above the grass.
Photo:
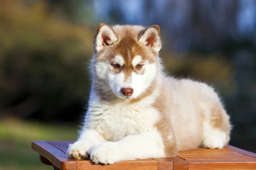
M 0 110 L 33 98 L 51 114 L 84 99 L 93 36 L 50 14 L 44 3 L 1 2 Z

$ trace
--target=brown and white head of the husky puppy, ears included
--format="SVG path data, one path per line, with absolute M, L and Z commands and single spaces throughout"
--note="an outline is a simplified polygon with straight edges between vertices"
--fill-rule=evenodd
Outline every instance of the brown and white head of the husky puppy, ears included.
M 122 99 L 147 93 L 159 70 L 161 46 L 157 25 L 110 27 L 101 23 L 93 43 L 93 77 L 98 91 Z

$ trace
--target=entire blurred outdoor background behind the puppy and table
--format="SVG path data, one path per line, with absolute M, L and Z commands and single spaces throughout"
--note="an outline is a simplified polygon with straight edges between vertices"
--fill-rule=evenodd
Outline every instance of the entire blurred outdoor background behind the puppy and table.
M 51 170 L 32 140 L 75 140 L 99 23 L 158 24 L 176 77 L 213 85 L 256 152 L 256 0 L 1 0 L 0 170 Z

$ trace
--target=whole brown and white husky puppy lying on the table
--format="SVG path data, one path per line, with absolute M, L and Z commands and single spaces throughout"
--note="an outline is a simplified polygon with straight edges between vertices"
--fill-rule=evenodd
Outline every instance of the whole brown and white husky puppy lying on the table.
M 160 28 L 101 23 L 93 42 L 88 110 L 67 156 L 95 164 L 223 148 L 230 116 L 212 87 L 163 70 Z

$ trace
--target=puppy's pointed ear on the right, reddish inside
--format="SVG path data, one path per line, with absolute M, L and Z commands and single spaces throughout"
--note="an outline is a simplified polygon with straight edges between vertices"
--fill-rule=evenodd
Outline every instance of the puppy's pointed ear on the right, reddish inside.
M 155 51 L 160 51 L 162 41 L 160 37 L 160 28 L 157 25 L 149 26 L 139 35 L 139 42 L 146 46 L 150 46 Z

